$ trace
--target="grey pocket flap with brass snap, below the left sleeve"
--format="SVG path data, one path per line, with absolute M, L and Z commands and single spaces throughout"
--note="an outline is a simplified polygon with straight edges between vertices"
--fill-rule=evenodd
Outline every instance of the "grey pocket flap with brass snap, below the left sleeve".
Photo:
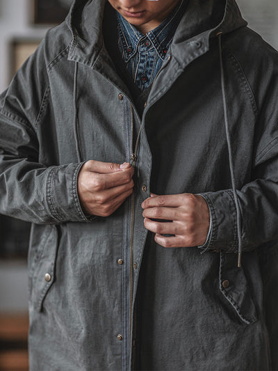
M 55 281 L 55 265 L 58 250 L 58 232 L 54 225 L 44 226 L 42 245 L 38 249 L 29 271 L 31 306 L 40 312 L 42 303 Z

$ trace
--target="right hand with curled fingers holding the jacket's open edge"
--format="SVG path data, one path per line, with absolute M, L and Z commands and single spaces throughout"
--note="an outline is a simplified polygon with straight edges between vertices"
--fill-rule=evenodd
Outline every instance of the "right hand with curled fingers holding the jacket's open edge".
M 210 216 L 208 205 L 202 196 L 151 195 L 142 203 L 142 208 L 145 228 L 156 234 L 154 240 L 161 246 L 190 247 L 206 242 Z

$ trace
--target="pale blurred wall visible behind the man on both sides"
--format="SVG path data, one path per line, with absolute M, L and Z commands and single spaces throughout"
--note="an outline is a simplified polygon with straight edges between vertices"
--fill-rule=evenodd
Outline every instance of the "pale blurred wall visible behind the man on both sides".
M 30 24 L 31 0 L 0 0 L 0 91 L 9 83 L 9 43 L 13 38 L 42 38 L 47 28 Z M 278 49 L 278 0 L 238 0 L 245 19 Z M 0 262 L 0 311 L 26 310 L 26 262 Z

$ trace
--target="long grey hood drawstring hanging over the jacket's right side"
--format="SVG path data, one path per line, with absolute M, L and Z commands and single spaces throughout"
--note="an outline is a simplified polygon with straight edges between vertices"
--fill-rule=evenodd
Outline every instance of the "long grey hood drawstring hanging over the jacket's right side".
M 224 106 L 225 131 L 226 131 L 227 145 L 228 145 L 228 152 L 229 152 L 229 168 L 230 168 L 230 173 L 231 173 L 231 185 L 232 185 L 233 194 L 234 194 L 234 202 L 236 205 L 236 226 L 238 229 L 238 268 L 240 268 L 241 267 L 241 256 L 243 253 L 243 240 L 241 236 L 241 214 L 240 214 L 240 206 L 239 206 L 239 201 L 238 201 L 238 194 L 236 193 L 236 181 L 234 177 L 234 161 L 233 161 L 233 155 L 232 155 L 232 150 L 231 150 L 231 136 L 229 133 L 227 97 L 226 97 L 226 87 L 225 87 L 225 79 L 224 79 L 223 60 L 222 60 L 221 35 L 222 35 L 222 32 L 218 33 L 218 45 L 219 45 L 220 69 L 221 69 L 221 86 L 222 86 L 222 97 L 223 97 L 223 106 Z

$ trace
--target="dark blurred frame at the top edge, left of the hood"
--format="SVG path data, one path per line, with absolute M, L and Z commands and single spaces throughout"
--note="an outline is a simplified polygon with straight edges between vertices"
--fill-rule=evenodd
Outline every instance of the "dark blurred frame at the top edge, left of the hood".
M 32 0 L 33 23 L 59 24 L 63 22 L 73 0 Z

